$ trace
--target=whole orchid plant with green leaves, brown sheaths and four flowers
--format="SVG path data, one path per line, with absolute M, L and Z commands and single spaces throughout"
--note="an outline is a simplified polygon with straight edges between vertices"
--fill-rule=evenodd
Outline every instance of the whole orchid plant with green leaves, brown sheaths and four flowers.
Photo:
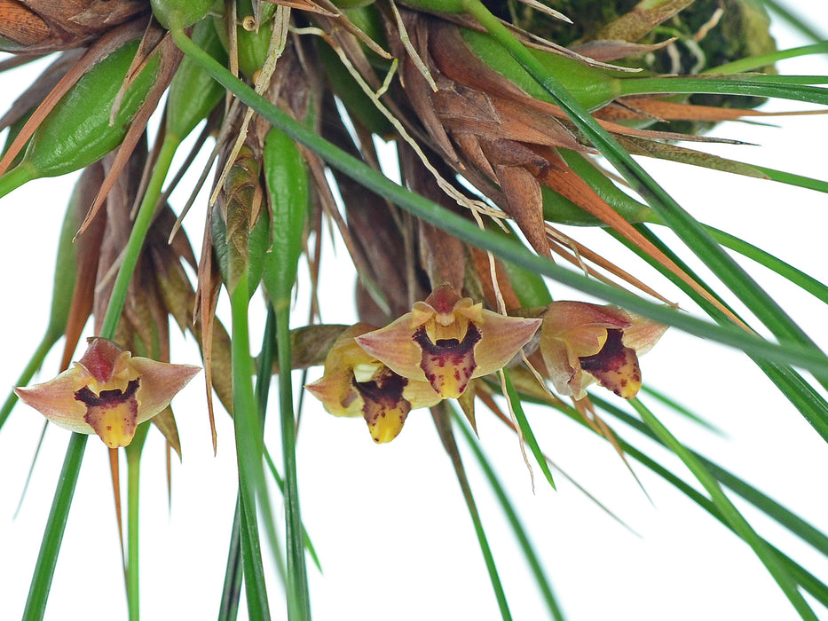
M 540 468 L 552 488 L 555 456 L 533 423 L 550 415 L 581 423 L 633 478 L 651 470 L 744 540 L 793 611 L 816 619 L 828 586 L 763 538 L 722 486 L 828 556 L 825 535 L 691 451 L 639 397 L 657 394 L 640 357 L 668 329 L 683 331 L 744 351 L 828 441 L 828 358 L 733 255 L 821 303 L 828 288 L 739 230 L 699 222 L 640 163 L 677 162 L 688 183 L 701 167 L 828 191 L 822 179 L 712 153 L 738 142 L 717 135 L 719 123 L 817 118 L 828 106 L 828 78 L 775 67 L 828 45 L 777 50 L 769 15 L 818 38 L 771 0 L 0 4 L 0 49 L 12 54 L 0 69 L 51 62 L 0 119 L 8 130 L 0 202 L 43 177 L 77 178 L 43 345 L 0 410 L 0 428 L 12 409 L 35 416 L 33 408 L 72 432 L 24 618 L 43 618 L 83 456 L 102 450 L 87 446 L 95 435 L 108 450 L 137 621 L 144 440 L 158 432 L 168 456 L 181 456 L 186 438 L 171 403 L 203 369 L 212 449 L 216 398 L 232 416 L 238 468 L 221 619 L 235 618 L 242 593 L 250 618 L 285 609 L 292 621 L 311 619 L 309 564 L 325 551 L 311 544 L 300 508 L 305 391 L 327 413 L 363 419 L 371 444 L 391 443 L 413 411 L 428 409 L 503 619 L 508 593 L 458 436 L 510 515 L 548 616 L 564 618 L 566 606 L 480 450 L 482 415 L 503 421 L 526 479 Z M 761 108 L 769 100 L 810 107 Z M 382 144 L 396 147 L 401 183 L 386 174 Z M 183 145 L 191 151 L 177 158 Z M 206 161 L 203 170 L 188 171 L 193 161 Z M 178 203 L 182 185 L 191 185 L 189 199 Z M 196 212 L 204 228 L 193 249 Z M 319 279 L 334 261 L 323 244 L 329 231 L 358 275 L 353 324 L 319 307 Z M 623 252 L 585 233 L 606 234 Z M 307 318 L 297 317 L 300 298 Z M 260 347 L 251 343 L 256 316 L 266 318 Z M 172 351 L 170 318 L 200 360 Z M 59 368 L 42 368 L 59 342 Z M 277 437 L 264 425 L 271 383 Z M 639 448 L 627 428 L 672 452 L 700 487 Z M 270 458 L 277 445 L 280 468 Z M 170 484 L 171 460 L 167 468 Z M 265 586 L 263 547 L 284 598 Z

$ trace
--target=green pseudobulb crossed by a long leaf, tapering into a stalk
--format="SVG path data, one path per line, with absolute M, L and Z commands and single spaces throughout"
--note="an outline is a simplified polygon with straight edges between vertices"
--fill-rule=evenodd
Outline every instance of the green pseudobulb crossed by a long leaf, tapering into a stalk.
M 212 20 L 201 20 L 193 27 L 193 43 L 219 63 L 227 54 Z M 225 89 L 189 56 L 181 60 L 167 96 L 167 135 L 184 139 L 224 97 Z

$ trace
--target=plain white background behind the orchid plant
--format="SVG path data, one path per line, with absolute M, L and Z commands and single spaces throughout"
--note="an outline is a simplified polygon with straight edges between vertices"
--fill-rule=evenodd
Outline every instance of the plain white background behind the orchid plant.
M 807 7 L 803 12 L 814 11 L 810 3 L 799 4 Z M 814 21 L 826 24 L 828 20 Z M 776 34 L 780 47 L 802 43 L 785 29 L 777 29 Z M 780 67 L 793 73 L 828 74 L 824 59 L 788 61 Z M 0 76 L 0 109 L 20 90 L 18 81 L 27 83 L 34 76 L 31 69 Z M 776 102 L 773 106 L 796 105 Z M 825 118 L 793 117 L 777 123 L 779 127 L 722 126 L 717 136 L 760 146 L 718 147 L 716 152 L 825 178 Z M 738 232 L 816 279 L 828 281 L 824 194 L 666 163 L 646 165 L 701 221 Z M 4 390 L 16 381 L 48 317 L 55 244 L 73 180 L 45 179 L 0 200 L 4 223 L 0 386 Z M 174 206 L 180 207 L 183 200 L 174 196 Z M 203 202 L 187 221 L 193 243 L 201 239 L 198 221 L 202 218 Z M 603 236 L 576 233 L 579 239 L 605 243 Z M 617 252 L 614 246 L 605 248 Z M 347 263 L 341 245 L 335 252 L 328 253 L 323 268 L 327 273 L 323 318 L 349 323 L 354 320 L 352 277 L 337 271 Z M 816 342 L 828 348 L 824 304 L 745 264 Z M 559 287 L 553 288 L 553 294 L 572 297 Z M 299 297 L 306 295 L 305 286 Z M 299 316 L 304 317 L 304 312 Z M 197 361 L 193 343 L 177 334 L 173 348 L 177 361 Z M 257 350 L 255 344 L 253 349 Z M 39 381 L 51 377 L 57 364 L 54 356 L 49 358 Z M 722 438 L 699 430 L 647 399 L 645 403 L 682 441 L 828 531 L 824 483 L 828 450 L 744 355 L 671 330 L 642 364 L 647 383 L 702 413 L 726 433 Z M 318 375 L 319 369 L 311 370 L 311 380 Z M 160 434 L 150 433 L 143 460 L 142 612 L 146 619 L 213 618 L 233 519 L 233 430 L 229 419 L 219 413 L 214 458 L 201 376 L 173 405 L 184 459 L 173 468 L 169 509 Z M 556 476 L 557 491 L 537 476 L 533 492 L 514 436 L 481 408 L 478 428 L 485 452 L 524 519 L 569 618 L 796 617 L 749 547 L 669 484 L 633 462 L 651 504 L 609 444 L 556 413 L 534 412 L 531 422 L 553 460 L 637 533 L 604 514 L 563 476 Z M 20 513 L 12 519 L 42 425 L 39 414 L 20 406 L 0 430 L 0 618 L 20 617 L 66 451 L 68 432 L 50 428 Z M 635 444 L 652 448 L 623 425 L 617 426 Z M 276 451 L 276 424 L 266 429 L 266 438 Z M 652 450 L 659 459 L 664 457 Z M 274 457 L 280 461 L 278 455 Z M 540 595 L 500 508 L 469 452 L 464 452 L 464 459 L 514 618 L 545 618 Z M 364 423 L 335 419 L 309 399 L 298 460 L 304 521 L 323 568 L 321 574 L 310 570 L 314 618 L 500 618 L 469 515 L 427 411 L 412 413 L 393 443 L 375 446 Z M 666 456 L 664 461 L 686 475 L 676 460 Z M 275 494 L 274 499 L 281 515 L 280 499 Z M 817 578 L 828 581 L 828 560 L 736 501 L 758 531 Z M 272 580 L 269 590 L 273 617 L 284 617 L 280 585 Z M 122 619 L 124 601 L 108 456 L 104 445 L 92 437 L 46 617 Z M 817 615 L 828 617 L 818 604 L 815 607 Z

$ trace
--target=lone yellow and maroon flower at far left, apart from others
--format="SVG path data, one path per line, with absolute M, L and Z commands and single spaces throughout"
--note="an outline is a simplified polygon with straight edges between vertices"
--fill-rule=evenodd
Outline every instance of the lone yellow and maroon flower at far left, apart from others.
M 170 405 L 199 370 L 133 358 L 115 342 L 96 337 L 74 366 L 51 381 L 14 392 L 59 427 L 96 433 L 116 448 L 130 444 L 135 428 Z

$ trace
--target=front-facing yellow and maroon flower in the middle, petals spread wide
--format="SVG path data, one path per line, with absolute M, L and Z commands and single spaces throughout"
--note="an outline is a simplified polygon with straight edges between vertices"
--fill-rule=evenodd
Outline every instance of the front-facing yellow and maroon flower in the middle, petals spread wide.
M 540 319 L 486 311 L 441 285 L 411 312 L 357 342 L 395 373 L 428 381 L 440 397 L 457 398 L 472 378 L 507 365 L 538 326 Z

